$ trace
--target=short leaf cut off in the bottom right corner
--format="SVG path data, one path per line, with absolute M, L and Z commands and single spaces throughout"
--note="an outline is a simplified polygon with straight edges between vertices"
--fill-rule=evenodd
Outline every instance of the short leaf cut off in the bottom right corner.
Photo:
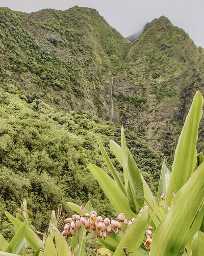
M 197 231 L 192 242 L 192 256 L 203 256 L 204 253 L 204 233 Z

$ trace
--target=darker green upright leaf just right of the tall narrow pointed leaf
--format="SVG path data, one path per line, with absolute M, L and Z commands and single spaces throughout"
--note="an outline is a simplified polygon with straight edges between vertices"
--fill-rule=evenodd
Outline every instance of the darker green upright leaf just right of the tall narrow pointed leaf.
M 127 172 L 129 174 L 127 198 L 129 199 L 131 210 L 134 213 L 139 213 L 142 206 L 144 205 L 143 182 L 141 179 L 140 171 L 129 150 L 127 151 Z

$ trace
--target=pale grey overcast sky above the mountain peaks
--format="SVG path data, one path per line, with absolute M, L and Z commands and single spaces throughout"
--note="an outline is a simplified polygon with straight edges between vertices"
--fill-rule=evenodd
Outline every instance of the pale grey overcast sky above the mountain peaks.
M 96 9 L 124 37 L 165 15 L 173 25 L 183 28 L 197 46 L 204 47 L 204 0 L 0 0 L 0 7 L 21 12 L 66 10 L 75 5 Z

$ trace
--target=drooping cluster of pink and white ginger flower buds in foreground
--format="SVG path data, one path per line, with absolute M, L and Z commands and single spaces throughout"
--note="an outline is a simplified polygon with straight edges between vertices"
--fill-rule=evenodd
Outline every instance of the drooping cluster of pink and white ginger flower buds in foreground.
M 97 216 L 95 211 L 92 211 L 90 215 L 88 213 L 84 214 L 83 205 L 81 205 L 81 212 L 83 215 L 74 214 L 71 218 L 64 220 L 65 226 L 62 232 L 63 236 L 67 237 L 70 234 L 74 236 L 76 230 L 79 230 L 82 226 L 84 226 L 87 233 L 92 232 L 92 238 L 106 239 L 107 233 L 111 233 L 113 231 L 115 234 L 118 234 L 122 227 L 122 222 L 128 228 L 135 220 L 135 218 L 132 220 L 125 219 L 124 213 L 119 214 L 117 216 L 117 220 L 110 220 L 109 218 L 103 219 L 101 216 Z

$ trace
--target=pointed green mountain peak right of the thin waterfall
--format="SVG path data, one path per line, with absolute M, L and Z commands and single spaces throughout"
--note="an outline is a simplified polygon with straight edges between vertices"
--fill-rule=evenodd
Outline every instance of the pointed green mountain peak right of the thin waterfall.
M 144 130 L 149 145 L 171 158 L 196 88 L 204 92 L 203 53 L 162 16 L 133 43 L 115 78 L 115 118 Z

